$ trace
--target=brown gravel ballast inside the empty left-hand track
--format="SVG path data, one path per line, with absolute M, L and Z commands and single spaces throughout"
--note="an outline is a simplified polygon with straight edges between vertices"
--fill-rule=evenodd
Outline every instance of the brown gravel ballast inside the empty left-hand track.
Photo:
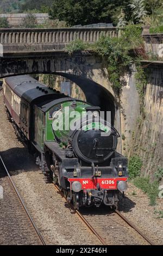
M 1 166 L 0 185 L 3 186 L 3 199 L 0 199 L 0 244 L 41 245 L 32 223 Z

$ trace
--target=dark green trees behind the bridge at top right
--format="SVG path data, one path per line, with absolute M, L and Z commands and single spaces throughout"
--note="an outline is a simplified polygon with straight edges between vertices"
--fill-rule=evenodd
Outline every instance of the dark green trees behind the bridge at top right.
M 124 27 L 129 24 L 158 26 L 162 22 L 162 0 L 53 0 L 52 19 L 68 26 L 107 22 Z

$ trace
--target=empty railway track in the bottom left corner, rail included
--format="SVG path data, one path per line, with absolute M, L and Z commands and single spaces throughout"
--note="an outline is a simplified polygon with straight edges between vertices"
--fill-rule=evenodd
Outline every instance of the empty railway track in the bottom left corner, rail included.
M 22 241 L 27 244 L 36 244 L 36 245 L 46 245 L 45 240 L 43 239 L 39 229 L 37 228 L 35 222 L 33 221 L 32 216 L 30 216 L 29 211 L 26 208 L 26 205 L 23 202 L 23 199 L 18 193 L 17 188 L 12 181 L 10 173 L 3 162 L 2 156 L 0 155 L 0 178 L 5 179 L 2 181 L 1 185 L 4 191 L 4 200 L 2 200 L 1 210 L 3 206 L 5 210 L 8 210 L 8 214 L 11 216 L 4 217 L 3 222 L 10 223 L 9 230 L 13 230 L 13 239 L 16 240 L 18 244 L 22 244 Z M 7 198 L 8 197 L 8 198 Z M 4 205 L 3 205 L 4 204 Z M 10 204 L 9 206 L 7 204 Z M 11 205 L 12 204 L 12 205 Z M 9 212 L 11 210 L 11 213 Z M 1 215 L 5 215 L 5 212 L 2 212 Z M 2 216 L 3 216 L 2 215 Z M 8 220 L 9 218 L 9 220 Z M 10 220 L 14 220 L 14 223 Z M 14 227 L 13 227 L 14 226 Z M 3 233 L 5 233 L 6 225 L 4 227 Z M 17 229 L 15 231 L 15 229 Z M 11 231 L 9 231 L 10 233 Z M 16 234 L 15 234 L 16 232 Z M 30 235 L 28 235 L 30 234 Z M 7 234 L 8 235 L 8 234 Z M 12 236 L 12 234 L 10 233 Z M 23 237 L 24 236 L 24 237 Z M 26 241 L 27 239 L 27 241 Z M 0 243 L 3 242 L 0 240 Z M 11 237 L 12 243 L 12 237 Z

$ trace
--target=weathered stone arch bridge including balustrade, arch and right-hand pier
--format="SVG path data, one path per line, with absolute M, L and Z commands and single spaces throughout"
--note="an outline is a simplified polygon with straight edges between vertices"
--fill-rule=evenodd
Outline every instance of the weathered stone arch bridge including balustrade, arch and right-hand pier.
M 116 95 L 108 80 L 104 59 L 95 52 L 65 52 L 66 44 L 76 39 L 93 43 L 101 35 L 118 36 L 116 28 L 61 28 L 61 29 L 0 29 L 3 56 L 0 58 L 0 78 L 20 74 L 57 74 L 75 82 L 84 92 L 86 100 L 101 106 L 102 111 L 111 111 L 111 123 L 121 134 L 127 130 Z M 126 77 L 128 87 L 124 93 L 124 109 L 132 109 L 129 130 L 135 129 L 139 114 L 139 96 L 134 78 Z M 130 88 L 130 89 L 129 89 Z M 134 101 L 130 101 L 133 99 Z M 123 97 L 122 97 L 123 103 Z M 135 107 L 136 106 L 136 107 Z M 126 129 L 127 127 L 127 129 Z M 122 131 L 123 132 L 123 131 Z M 130 134 L 128 135 L 130 137 Z M 118 151 L 122 151 L 121 142 Z

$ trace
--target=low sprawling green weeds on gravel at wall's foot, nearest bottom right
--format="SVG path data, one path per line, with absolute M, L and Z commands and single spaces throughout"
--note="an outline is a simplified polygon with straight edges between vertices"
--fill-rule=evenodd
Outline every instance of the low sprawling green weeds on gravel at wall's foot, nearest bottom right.
M 159 184 L 157 181 L 149 182 L 149 178 L 137 177 L 134 179 L 134 185 L 147 193 L 150 199 L 150 205 L 155 205 L 159 193 Z

